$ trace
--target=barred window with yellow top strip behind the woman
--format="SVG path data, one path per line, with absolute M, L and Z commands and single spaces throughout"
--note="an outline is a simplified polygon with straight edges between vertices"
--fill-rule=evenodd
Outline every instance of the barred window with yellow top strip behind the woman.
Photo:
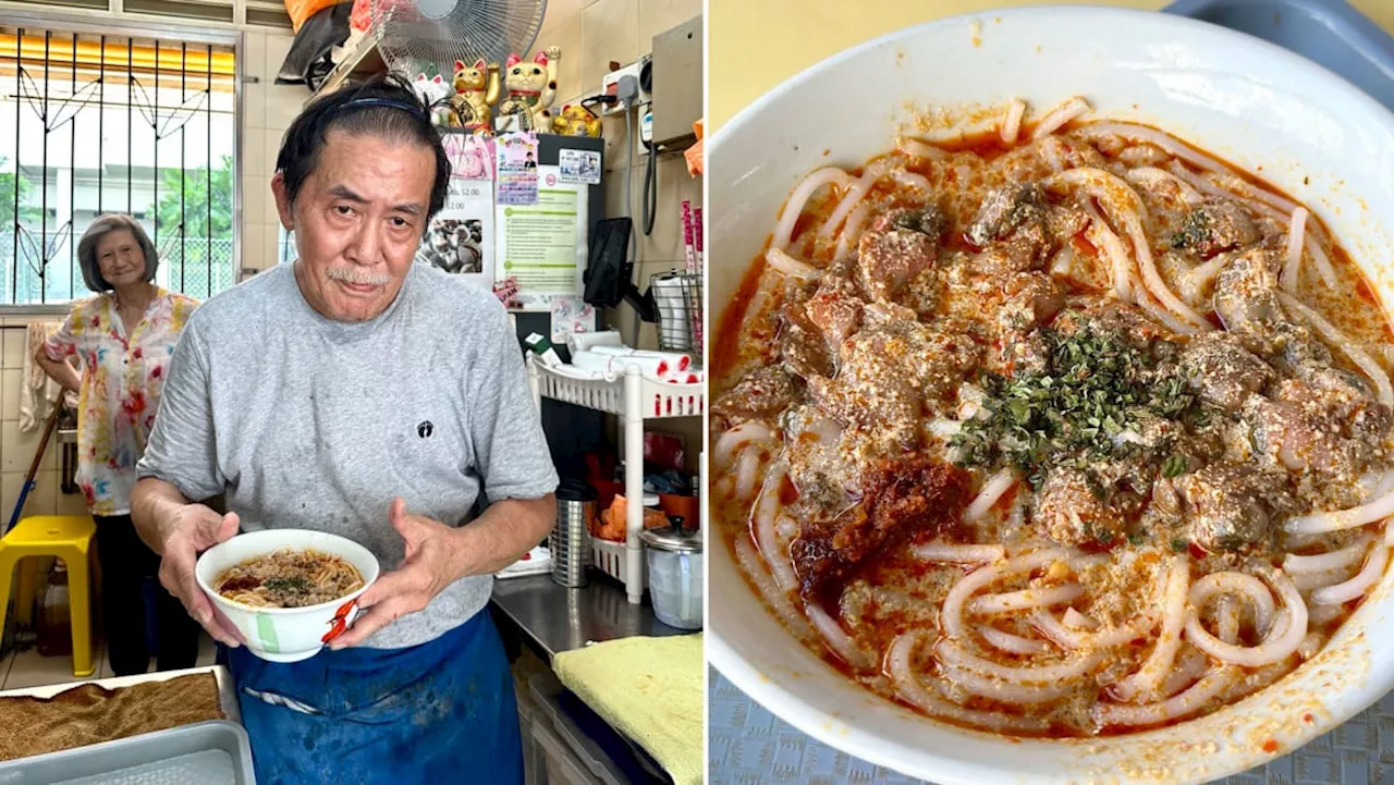
M 236 283 L 234 40 L 0 18 L 0 305 L 88 296 L 77 243 L 105 212 L 145 226 L 160 286 Z

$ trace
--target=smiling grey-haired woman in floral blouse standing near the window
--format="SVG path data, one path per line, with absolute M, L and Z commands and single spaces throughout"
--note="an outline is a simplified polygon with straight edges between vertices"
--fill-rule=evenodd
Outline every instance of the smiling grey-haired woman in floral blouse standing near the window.
M 116 675 L 128 676 L 149 668 L 142 584 L 153 584 L 160 563 L 131 523 L 135 463 L 155 425 L 174 343 L 198 303 L 151 283 L 159 259 L 131 216 L 92 222 L 78 243 L 78 261 L 96 297 L 74 301 L 35 361 L 78 392 L 77 482 L 96 520 L 106 650 Z M 72 356 L 81 360 L 81 374 L 68 361 Z M 192 668 L 198 625 L 167 591 L 155 594 L 159 669 Z

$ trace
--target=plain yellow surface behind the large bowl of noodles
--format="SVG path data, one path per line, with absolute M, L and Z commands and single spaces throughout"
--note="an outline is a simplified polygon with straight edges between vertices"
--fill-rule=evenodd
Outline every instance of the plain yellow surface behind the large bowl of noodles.
M 1059 0 L 710 0 L 707 3 L 707 130 L 715 131 L 779 82 L 880 35 L 993 8 L 1046 6 Z M 1154 11 L 1171 0 L 1072 0 Z M 1394 33 L 1394 3 L 1351 0 L 1358 11 Z M 931 75 L 933 77 L 933 75 Z M 927 77 L 927 78 L 931 78 Z M 867 78 L 875 78 L 867 74 Z M 836 96 L 828 96 L 836 106 Z

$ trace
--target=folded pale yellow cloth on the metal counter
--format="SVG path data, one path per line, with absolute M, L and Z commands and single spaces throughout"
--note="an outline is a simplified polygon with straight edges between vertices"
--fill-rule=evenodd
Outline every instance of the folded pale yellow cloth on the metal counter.
M 675 785 L 703 775 L 703 665 L 698 634 L 625 637 L 552 658 L 566 689 L 638 742 Z

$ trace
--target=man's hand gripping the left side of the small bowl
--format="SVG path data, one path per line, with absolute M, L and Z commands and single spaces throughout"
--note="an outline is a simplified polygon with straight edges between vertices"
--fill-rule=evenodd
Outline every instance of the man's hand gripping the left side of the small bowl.
M 237 534 L 237 513 L 219 516 L 204 505 L 184 505 L 160 528 L 167 531 L 160 552 L 160 583 L 199 625 L 213 636 L 213 640 L 237 648 L 243 643 L 241 633 L 227 620 L 199 588 L 194 579 L 194 563 L 204 551 L 231 540 Z

